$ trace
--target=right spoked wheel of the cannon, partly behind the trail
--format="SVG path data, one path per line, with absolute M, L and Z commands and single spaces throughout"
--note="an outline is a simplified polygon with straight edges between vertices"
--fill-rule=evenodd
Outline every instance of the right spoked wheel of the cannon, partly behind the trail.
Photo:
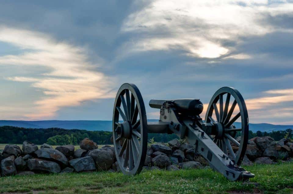
M 225 104 L 223 99 L 226 99 Z M 235 127 L 236 123 L 233 125 L 237 119 L 241 120 L 239 128 Z M 212 139 L 225 154 L 230 153 L 231 160 L 240 165 L 248 142 L 248 113 L 242 95 L 235 88 L 220 88 L 208 105 L 205 122 L 222 124 L 224 129 L 222 135 L 215 135 Z M 238 141 L 240 139 L 240 142 L 236 139 Z M 238 151 L 234 153 L 233 150 L 237 149 Z

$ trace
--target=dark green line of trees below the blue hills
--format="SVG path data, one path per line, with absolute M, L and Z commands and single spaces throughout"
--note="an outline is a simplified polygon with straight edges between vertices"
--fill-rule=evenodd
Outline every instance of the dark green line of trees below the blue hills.
M 286 131 L 272 131 L 261 132 L 257 131 L 253 133 L 249 131 L 249 138 L 256 136 L 271 136 L 276 141 L 284 137 L 292 137 L 292 129 Z M 54 145 L 78 145 L 84 138 L 92 139 L 99 145 L 112 144 L 110 138 L 112 136 L 111 131 L 86 131 L 79 129 L 61 129 L 61 128 L 48 128 L 48 129 L 34 129 L 34 128 L 19 128 L 12 126 L 0 127 L 0 143 L 22 144 L 25 140 L 33 142 L 35 144 L 48 143 Z M 168 142 L 174 138 L 178 138 L 175 134 L 162 134 L 162 133 L 149 133 L 148 139 L 152 139 L 155 142 Z

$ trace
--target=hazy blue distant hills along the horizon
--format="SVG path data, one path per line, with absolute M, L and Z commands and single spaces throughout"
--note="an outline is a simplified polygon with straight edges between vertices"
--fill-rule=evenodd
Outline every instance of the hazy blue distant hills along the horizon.
M 148 121 L 158 121 L 149 119 Z M 235 123 L 240 127 L 240 123 Z M 88 131 L 112 131 L 111 120 L 40 120 L 40 121 L 20 121 L 20 120 L 0 120 L 0 126 L 14 126 L 23 128 L 63 128 L 63 129 L 84 129 Z M 251 123 L 249 130 L 256 132 L 283 131 L 293 128 L 293 125 L 273 125 L 268 123 Z

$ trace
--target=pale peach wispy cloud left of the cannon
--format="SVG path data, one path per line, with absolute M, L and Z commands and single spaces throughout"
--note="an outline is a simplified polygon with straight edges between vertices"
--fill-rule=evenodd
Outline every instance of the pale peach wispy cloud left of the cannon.
M 78 106 L 91 99 L 113 97 L 112 81 L 87 59 L 85 48 L 57 42 L 47 34 L 10 27 L 0 27 L 0 41 L 25 49 L 22 54 L 0 56 L 2 66 L 41 66 L 48 72 L 37 77 L 8 77 L 10 81 L 32 82 L 44 97 L 34 102 L 36 108 L 24 115 L 29 120 L 52 118 L 64 106 Z

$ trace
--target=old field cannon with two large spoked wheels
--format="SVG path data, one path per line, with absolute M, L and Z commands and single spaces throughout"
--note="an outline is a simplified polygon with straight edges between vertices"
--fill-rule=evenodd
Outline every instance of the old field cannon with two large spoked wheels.
M 149 105 L 160 109 L 158 122 L 147 122 L 143 98 L 136 85 L 125 83 L 117 92 L 113 143 L 123 174 L 135 175 L 142 170 L 148 133 L 174 133 L 186 139 L 194 146 L 195 155 L 203 156 L 228 180 L 254 177 L 240 167 L 248 143 L 248 113 L 242 95 L 235 88 L 223 87 L 215 92 L 204 120 L 199 116 L 204 108 L 199 99 L 152 99 Z

